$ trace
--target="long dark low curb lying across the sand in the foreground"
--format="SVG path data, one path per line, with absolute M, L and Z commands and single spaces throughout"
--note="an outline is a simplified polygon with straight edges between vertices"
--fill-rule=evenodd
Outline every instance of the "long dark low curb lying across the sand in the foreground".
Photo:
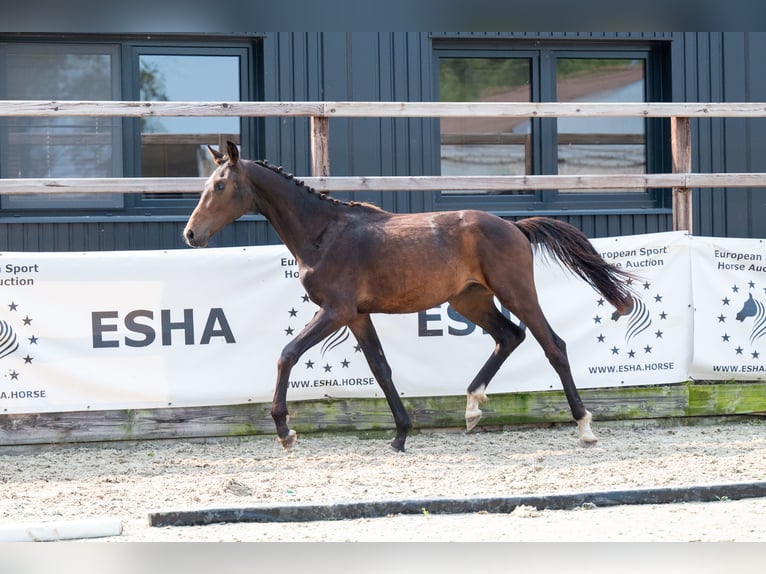
M 380 518 L 392 514 L 511 513 L 518 506 L 538 510 L 571 510 L 583 505 L 596 507 L 623 504 L 670 504 L 714 502 L 766 497 L 766 482 L 730 483 L 546 494 L 488 498 L 433 498 L 339 502 L 337 504 L 258 505 L 242 508 L 207 508 L 149 513 L 149 526 L 202 526 L 223 522 L 312 522 Z

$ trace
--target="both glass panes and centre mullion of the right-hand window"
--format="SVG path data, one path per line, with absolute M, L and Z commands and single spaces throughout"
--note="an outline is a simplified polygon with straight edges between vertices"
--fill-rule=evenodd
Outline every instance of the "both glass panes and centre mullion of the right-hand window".
M 646 59 L 643 57 L 628 58 L 624 53 L 602 52 L 609 57 L 599 54 L 598 58 L 590 58 L 553 50 L 540 52 L 537 56 L 526 57 L 527 54 L 442 55 L 439 60 L 441 101 L 646 101 Z M 441 173 L 646 173 L 646 125 L 645 119 L 636 117 L 562 117 L 535 121 L 528 118 L 442 118 Z M 597 192 L 614 191 L 645 194 L 641 189 Z M 536 195 L 534 192 L 526 194 Z

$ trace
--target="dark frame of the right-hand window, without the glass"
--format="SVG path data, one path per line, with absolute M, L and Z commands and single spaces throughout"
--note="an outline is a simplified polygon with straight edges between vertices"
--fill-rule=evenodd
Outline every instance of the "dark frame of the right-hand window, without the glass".
M 439 68 L 443 58 L 515 58 L 530 57 L 532 74 L 530 92 L 533 102 L 555 102 L 556 62 L 559 58 L 641 59 L 644 61 L 644 101 L 669 101 L 667 81 L 669 58 L 662 44 L 620 42 L 466 42 L 435 41 L 433 45 L 434 94 L 439 96 Z M 440 170 L 441 129 L 437 120 L 434 165 Z M 666 143 L 670 124 L 665 118 L 645 118 L 645 157 L 647 173 L 666 173 L 671 157 Z M 558 136 L 556 118 L 532 118 L 532 174 L 558 173 Z M 566 213 L 649 213 L 671 209 L 671 194 L 667 188 L 643 192 L 598 191 L 560 192 L 556 189 L 538 190 L 529 194 L 445 194 L 436 193 L 434 206 L 439 210 L 476 208 L 491 210 L 506 216 Z

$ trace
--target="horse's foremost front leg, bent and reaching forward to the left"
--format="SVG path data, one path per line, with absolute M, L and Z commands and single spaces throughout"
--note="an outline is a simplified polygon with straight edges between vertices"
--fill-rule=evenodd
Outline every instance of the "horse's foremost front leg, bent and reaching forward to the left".
M 292 448 L 298 438 L 295 431 L 287 425 L 287 387 L 290 381 L 290 372 L 303 353 L 341 326 L 342 323 L 333 314 L 320 309 L 308 325 L 298 333 L 298 336 L 282 350 L 277 364 L 277 386 L 274 390 L 274 399 L 271 402 L 271 418 L 274 419 L 274 424 L 277 427 L 279 443 L 285 450 Z

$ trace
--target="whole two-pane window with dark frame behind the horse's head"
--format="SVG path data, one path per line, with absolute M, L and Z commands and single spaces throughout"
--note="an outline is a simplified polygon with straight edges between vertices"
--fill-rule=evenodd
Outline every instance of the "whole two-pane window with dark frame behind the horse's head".
M 0 98 L 242 101 L 251 97 L 251 61 L 251 47 L 237 44 L 0 43 Z M 238 117 L 0 119 L 0 177 L 207 176 L 213 170 L 207 145 L 246 142 L 254 124 Z M 8 195 L 0 197 L 0 210 L 188 213 L 198 197 Z

